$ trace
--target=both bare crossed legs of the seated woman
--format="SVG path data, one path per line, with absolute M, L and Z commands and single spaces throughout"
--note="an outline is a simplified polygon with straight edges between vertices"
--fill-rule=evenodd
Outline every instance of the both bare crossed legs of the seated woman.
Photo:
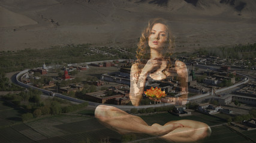
M 119 133 L 147 133 L 174 142 L 194 142 L 209 136 L 208 125 L 194 120 L 177 120 L 159 125 L 147 125 L 143 119 L 120 110 L 119 108 L 99 105 L 95 117 L 107 128 Z

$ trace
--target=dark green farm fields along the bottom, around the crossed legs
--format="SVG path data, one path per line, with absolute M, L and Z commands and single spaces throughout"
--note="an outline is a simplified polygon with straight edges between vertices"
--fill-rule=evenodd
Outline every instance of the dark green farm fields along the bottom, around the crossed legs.
M 22 111 L 0 102 L 0 142 L 167 142 L 155 136 L 129 133 L 120 135 L 101 125 L 93 116 L 94 110 L 85 109 L 74 114 L 45 116 L 30 122 L 22 123 Z M 159 123 L 164 125 L 171 120 L 197 120 L 212 126 L 212 135 L 201 142 L 251 142 L 240 133 L 222 126 L 225 120 L 206 114 L 195 113 L 192 116 L 177 117 L 170 113 L 159 113 L 141 116 L 149 125 Z M 256 141 L 256 130 L 242 131 L 243 135 Z

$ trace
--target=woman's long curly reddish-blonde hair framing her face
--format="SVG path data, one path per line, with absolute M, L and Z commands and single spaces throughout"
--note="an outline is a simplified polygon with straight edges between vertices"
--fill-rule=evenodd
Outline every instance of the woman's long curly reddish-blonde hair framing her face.
M 168 28 L 167 21 L 164 20 L 163 18 L 153 18 L 149 20 L 148 26 L 141 33 L 140 41 L 138 42 L 138 45 L 137 45 L 138 46 L 136 51 L 137 61 L 135 63 L 138 66 L 138 71 L 143 69 L 144 64 L 146 64 L 147 61 L 150 59 L 150 48 L 148 43 L 149 35 L 152 30 L 152 27 L 157 23 L 161 23 L 166 26 L 168 35 L 167 35 L 166 46 L 163 47 L 164 48 L 163 50 L 166 51 L 164 52 L 163 60 L 167 60 L 167 61 L 170 60 L 171 49 L 173 48 L 174 42 L 173 42 L 173 36 L 171 35 L 170 29 Z M 171 63 L 171 62 L 168 62 L 168 63 Z M 168 65 L 168 67 L 170 67 L 170 65 Z

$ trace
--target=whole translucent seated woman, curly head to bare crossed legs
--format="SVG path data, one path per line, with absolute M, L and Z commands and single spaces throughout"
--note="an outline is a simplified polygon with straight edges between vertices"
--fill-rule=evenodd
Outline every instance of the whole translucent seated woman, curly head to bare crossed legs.
M 139 105 L 147 79 L 165 80 L 170 76 L 177 76 L 180 89 L 185 91 L 185 94 L 175 101 L 179 104 L 186 102 L 188 91 L 186 65 L 181 61 L 166 58 L 170 57 L 168 51 L 171 46 L 171 34 L 165 20 L 161 18 L 150 20 L 138 43 L 138 60 L 131 67 L 130 99 L 133 105 Z M 179 120 L 165 123 L 163 126 L 157 123 L 149 126 L 140 117 L 107 105 L 99 105 L 95 109 L 95 117 L 108 128 L 119 133 L 147 133 L 174 142 L 198 141 L 210 135 L 210 128 L 205 123 Z

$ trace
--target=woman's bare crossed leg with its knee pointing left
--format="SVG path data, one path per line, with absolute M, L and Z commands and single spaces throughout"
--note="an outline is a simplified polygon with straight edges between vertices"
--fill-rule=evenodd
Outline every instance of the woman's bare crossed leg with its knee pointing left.
M 119 133 L 147 133 L 149 135 L 165 135 L 176 128 L 181 128 L 180 123 L 168 123 L 168 125 L 153 124 L 147 125 L 144 120 L 138 116 L 133 116 L 116 107 L 99 105 L 95 109 L 95 117 L 100 120 L 103 125 Z

